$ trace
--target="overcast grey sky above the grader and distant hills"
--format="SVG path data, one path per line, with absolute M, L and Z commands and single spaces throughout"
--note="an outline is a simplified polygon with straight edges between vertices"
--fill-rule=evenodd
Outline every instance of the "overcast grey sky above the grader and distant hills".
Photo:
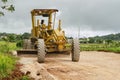
M 15 12 L 0 17 L 0 32 L 31 32 L 33 9 L 58 9 L 67 36 L 91 37 L 120 32 L 120 0 L 12 0 Z M 57 28 L 57 25 L 55 26 Z

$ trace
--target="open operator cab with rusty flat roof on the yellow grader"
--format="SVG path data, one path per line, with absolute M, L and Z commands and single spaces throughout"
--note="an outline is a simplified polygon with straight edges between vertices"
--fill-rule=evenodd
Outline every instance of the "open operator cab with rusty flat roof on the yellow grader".
M 57 9 L 34 9 L 32 10 L 31 11 L 32 22 L 33 22 L 32 26 L 33 27 L 38 26 L 38 24 L 41 21 L 41 23 L 45 23 L 48 30 L 53 29 L 55 25 L 56 12 L 58 12 Z M 52 20 L 53 17 L 54 17 L 54 20 Z M 42 20 L 39 20 L 39 19 L 42 19 Z

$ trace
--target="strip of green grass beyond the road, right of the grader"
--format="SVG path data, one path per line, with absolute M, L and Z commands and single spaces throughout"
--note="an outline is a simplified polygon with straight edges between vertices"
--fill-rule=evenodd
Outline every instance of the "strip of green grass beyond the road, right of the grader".
M 112 44 L 80 44 L 81 51 L 105 51 L 120 53 L 120 47 Z

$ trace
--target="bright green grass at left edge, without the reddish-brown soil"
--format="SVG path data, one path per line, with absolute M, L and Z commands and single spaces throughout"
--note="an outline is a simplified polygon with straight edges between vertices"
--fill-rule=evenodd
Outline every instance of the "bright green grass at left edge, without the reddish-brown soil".
M 0 41 L 0 80 L 8 77 L 14 69 L 17 59 L 8 53 L 16 49 L 16 43 Z

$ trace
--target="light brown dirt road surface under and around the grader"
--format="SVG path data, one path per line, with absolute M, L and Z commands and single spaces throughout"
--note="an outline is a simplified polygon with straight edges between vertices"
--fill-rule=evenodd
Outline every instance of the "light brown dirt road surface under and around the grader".
M 79 62 L 68 55 L 48 54 L 42 64 L 35 55 L 20 58 L 21 70 L 30 71 L 36 80 L 120 80 L 120 54 L 81 52 Z

